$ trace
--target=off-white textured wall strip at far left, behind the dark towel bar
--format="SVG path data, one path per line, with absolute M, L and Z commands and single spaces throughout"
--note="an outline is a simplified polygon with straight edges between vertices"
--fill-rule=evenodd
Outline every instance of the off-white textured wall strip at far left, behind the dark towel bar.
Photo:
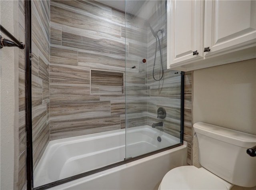
M 18 1 L 0 1 L 1 25 L 18 35 Z M 10 11 L 11 10 L 11 11 Z M 1 36 L 7 38 L 2 32 Z M 18 48 L 1 53 L 1 186 L 18 187 Z

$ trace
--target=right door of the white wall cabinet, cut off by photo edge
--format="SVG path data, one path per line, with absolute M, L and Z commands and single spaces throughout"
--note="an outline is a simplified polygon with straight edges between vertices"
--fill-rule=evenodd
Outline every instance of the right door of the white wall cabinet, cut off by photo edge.
M 207 0 L 204 12 L 206 57 L 255 46 L 255 0 Z

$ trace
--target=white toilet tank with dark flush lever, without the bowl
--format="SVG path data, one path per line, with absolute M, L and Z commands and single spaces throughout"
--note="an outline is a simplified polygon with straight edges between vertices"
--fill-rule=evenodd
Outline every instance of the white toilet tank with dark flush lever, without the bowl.
M 204 168 L 232 184 L 256 186 L 256 157 L 246 153 L 256 145 L 256 135 L 202 122 L 193 127 Z

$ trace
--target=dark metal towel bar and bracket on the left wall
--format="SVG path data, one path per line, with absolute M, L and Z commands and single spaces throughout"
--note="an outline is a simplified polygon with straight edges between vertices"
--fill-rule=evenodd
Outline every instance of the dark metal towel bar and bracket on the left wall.
M 19 42 L 14 36 L 12 36 L 12 34 L 10 32 L 8 32 L 2 25 L 0 25 L 1 31 L 6 34 L 6 36 L 8 36 L 9 38 L 11 38 L 11 40 L 13 40 L 13 42 L 11 40 L 8 40 L 6 38 L 2 38 L 2 36 L 0 36 L 0 40 L 1 40 L 1 47 L 18 47 L 20 49 L 24 49 L 25 48 L 25 44 L 22 42 Z

